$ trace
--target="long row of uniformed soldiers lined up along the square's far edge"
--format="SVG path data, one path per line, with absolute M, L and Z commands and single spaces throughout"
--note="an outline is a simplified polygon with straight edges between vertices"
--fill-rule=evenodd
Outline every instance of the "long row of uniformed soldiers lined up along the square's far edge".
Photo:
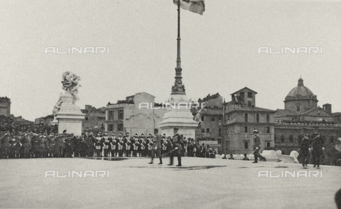
M 93 157 L 93 156 L 151 156 L 153 136 L 144 134 L 130 137 L 108 136 L 107 132 L 97 136 L 74 136 L 73 134 L 36 134 L 33 132 L 3 132 L 0 135 L 0 157 Z M 182 154 L 188 156 L 214 157 L 216 151 L 194 139 L 181 137 L 184 147 Z M 168 155 L 172 149 L 171 137 L 161 137 L 161 154 Z

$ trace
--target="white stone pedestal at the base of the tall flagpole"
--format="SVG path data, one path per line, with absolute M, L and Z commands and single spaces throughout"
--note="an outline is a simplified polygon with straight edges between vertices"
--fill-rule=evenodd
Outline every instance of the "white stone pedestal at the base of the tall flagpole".
M 173 136 L 174 129 L 177 128 L 178 134 L 195 139 L 195 129 L 197 124 L 193 119 L 193 115 L 190 112 L 190 103 L 186 98 L 186 95 L 171 95 L 171 99 L 168 101 L 167 112 L 163 116 L 163 121 L 158 123 L 161 128 L 161 135 Z

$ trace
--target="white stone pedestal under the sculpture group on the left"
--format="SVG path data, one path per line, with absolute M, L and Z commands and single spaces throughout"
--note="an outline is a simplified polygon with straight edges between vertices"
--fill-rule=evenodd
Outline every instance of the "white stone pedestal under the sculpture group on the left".
M 60 111 L 53 121 L 58 124 L 58 134 L 63 134 L 63 131 L 66 130 L 67 134 L 82 135 L 82 120 L 85 119 L 85 114 L 80 111 L 80 107 L 72 103 L 73 99 L 74 97 L 67 92 L 63 95 Z

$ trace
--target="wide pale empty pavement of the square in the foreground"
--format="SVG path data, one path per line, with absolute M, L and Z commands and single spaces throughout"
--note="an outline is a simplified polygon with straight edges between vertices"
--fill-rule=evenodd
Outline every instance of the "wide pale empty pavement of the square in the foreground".
M 184 157 L 179 168 L 167 166 L 166 158 L 163 165 L 149 161 L 1 159 L 0 208 L 336 208 L 334 195 L 341 188 L 337 166 L 317 170 L 274 161 Z M 55 178 L 45 177 L 46 171 L 54 171 Z M 57 177 L 57 171 L 66 177 Z M 69 171 L 82 171 L 83 177 Z M 84 177 L 85 171 L 105 175 Z M 269 177 L 257 177 L 259 171 Z M 270 171 L 280 177 L 270 178 Z M 298 171 L 322 171 L 322 176 L 297 177 Z

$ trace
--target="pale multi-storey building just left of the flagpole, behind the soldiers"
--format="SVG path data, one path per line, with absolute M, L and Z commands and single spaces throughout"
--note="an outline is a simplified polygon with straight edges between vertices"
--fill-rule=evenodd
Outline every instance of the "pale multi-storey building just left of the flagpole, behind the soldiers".
M 105 131 L 108 134 L 153 134 L 159 129 L 158 123 L 166 113 L 166 107 L 155 107 L 155 97 L 146 92 L 126 97 L 117 104 L 107 104 L 105 110 Z M 160 134 L 163 134 L 159 132 Z

